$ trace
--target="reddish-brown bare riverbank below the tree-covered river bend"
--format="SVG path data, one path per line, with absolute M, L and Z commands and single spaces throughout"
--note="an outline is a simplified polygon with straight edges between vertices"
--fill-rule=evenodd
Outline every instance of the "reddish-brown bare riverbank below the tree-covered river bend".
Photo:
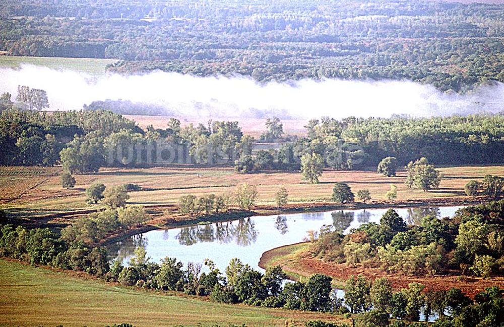
M 328 275 L 333 277 L 333 285 L 340 289 L 345 289 L 345 281 L 350 276 L 359 274 L 370 280 L 387 277 L 396 290 L 407 288 L 409 283 L 416 282 L 425 285 L 426 290 L 459 288 L 471 298 L 484 291 L 486 287 L 499 286 L 504 288 L 504 277 L 492 277 L 484 280 L 476 277 L 463 277 L 457 271 L 453 271 L 448 275 L 404 276 L 389 274 L 378 268 L 352 267 L 347 264 L 324 262 L 311 257 L 307 251 L 309 244 L 310 242 L 302 242 L 269 250 L 263 253 L 259 266 L 267 269 L 270 266 L 280 265 L 289 276 L 289 279 L 292 280 L 309 277 L 316 273 Z

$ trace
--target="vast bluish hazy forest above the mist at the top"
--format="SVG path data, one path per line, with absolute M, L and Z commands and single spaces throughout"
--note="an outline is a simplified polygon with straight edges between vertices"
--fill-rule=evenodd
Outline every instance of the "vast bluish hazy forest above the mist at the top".
M 259 81 L 411 79 L 464 92 L 504 80 L 504 7 L 435 1 L 6 0 L 0 51 L 118 59 Z

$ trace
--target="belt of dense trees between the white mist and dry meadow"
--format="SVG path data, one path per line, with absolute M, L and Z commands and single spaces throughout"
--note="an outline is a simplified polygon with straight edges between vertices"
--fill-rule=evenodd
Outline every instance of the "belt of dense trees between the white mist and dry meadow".
M 441 165 L 499 163 L 504 152 L 504 116 L 392 117 L 307 122 L 307 136 L 284 135 L 278 118 L 266 120 L 255 139 L 237 121 L 141 129 L 122 115 L 103 110 L 15 109 L 4 94 L 0 104 L 0 165 L 62 165 L 69 172 L 100 167 L 148 167 L 167 163 L 234 166 L 240 173 L 299 170 L 303 155 L 320 156 L 336 170 L 373 170 L 386 157 L 399 166 L 420 157 Z M 113 103 L 113 102 L 112 102 Z M 132 105 L 132 104 L 130 104 Z M 0 108 L 2 109 L 2 108 Z M 258 143 L 271 143 L 256 150 Z M 269 147 L 269 149 L 267 149 Z

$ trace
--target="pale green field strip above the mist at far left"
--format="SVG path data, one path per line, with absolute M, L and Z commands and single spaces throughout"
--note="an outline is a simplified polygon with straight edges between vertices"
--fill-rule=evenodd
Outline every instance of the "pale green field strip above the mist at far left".
M 93 75 L 104 75 L 105 66 L 113 59 L 54 58 L 54 57 L 14 57 L 0 56 L 0 67 L 19 68 L 22 64 L 43 66 L 51 69 L 69 69 Z

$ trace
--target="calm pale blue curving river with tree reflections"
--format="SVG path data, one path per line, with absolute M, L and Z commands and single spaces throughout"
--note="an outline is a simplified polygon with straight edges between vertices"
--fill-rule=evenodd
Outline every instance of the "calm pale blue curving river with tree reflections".
M 408 224 L 419 224 L 426 215 L 453 216 L 461 207 L 396 209 Z M 175 257 L 187 262 L 212 260 L 224 273 L 232 258 L 259 269 L 262 254 L 273 248 L 303 241 L 308 230 L 319 230 L 332 224 L 348 232 L 367 222 L 380 223 L 387 209 L 337 210 L 273 216 L 253 216 L 209 225 L 152 230 L 110 244 L 110 259 L 128 262 L 137 246 L 144 246 L 155 262 Z

